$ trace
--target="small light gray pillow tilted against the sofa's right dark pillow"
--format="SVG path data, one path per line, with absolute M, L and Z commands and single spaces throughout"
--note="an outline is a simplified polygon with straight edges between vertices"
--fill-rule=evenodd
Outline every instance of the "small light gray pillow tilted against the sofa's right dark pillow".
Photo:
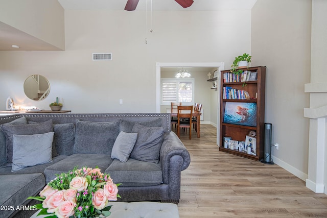
M 111 158 L 118 159 L 125 163 L 134 148 L 136 139 L 137 133 L 126 133 L 121 131 L 114 141 Z

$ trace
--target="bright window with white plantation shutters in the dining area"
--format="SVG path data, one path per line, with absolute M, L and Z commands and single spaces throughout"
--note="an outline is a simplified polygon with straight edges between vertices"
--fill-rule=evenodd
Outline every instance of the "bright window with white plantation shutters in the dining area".
M 193 104 L 194 79 L 161 79 L 161 105 L 181 102 Z

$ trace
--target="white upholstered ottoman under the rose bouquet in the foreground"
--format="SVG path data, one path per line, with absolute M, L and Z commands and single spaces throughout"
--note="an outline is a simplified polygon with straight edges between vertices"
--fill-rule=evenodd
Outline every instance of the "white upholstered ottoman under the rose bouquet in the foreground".
M 178 207 L 173 203 L 109 202 L 108 205 L 112 205 L 111 215 L 108 218 L 179 218 Z M 38 213 L 39 211 L 31 218 L 45 217 L 45 215 L 36 216 Z

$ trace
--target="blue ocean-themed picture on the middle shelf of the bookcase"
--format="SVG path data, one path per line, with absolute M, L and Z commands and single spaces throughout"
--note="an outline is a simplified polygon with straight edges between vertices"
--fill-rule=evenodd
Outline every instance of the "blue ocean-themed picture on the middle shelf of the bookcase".
M 256 103 L 226 102 L 223 122 L 256 127 Z

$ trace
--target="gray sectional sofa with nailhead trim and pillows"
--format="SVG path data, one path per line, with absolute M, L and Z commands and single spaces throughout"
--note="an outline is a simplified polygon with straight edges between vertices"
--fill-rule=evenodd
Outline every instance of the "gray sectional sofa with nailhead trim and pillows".
M 166 113 L 0 116 L 1 217 L 24 214 L 27 197 L 74 166 L 110 173 L 119 201 L 178 203 L 190 154 L 170 127 Z

